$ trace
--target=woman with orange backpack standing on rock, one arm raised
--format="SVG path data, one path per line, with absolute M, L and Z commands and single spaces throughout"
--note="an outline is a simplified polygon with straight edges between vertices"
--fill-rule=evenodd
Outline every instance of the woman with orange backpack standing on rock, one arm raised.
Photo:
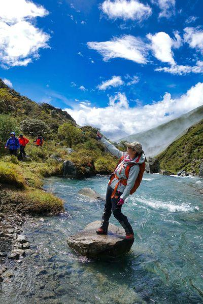
M 109 219 L 114 217 L 123 226 L 126 239 L 133 239 L 134 233 L 127 217 L 121 212 L 122 205 L 129 194 L 139 187 L 145 170 L 145 155 L 139 142 L 126 143 L 127 152 L 122 152 L 97 132 L 97 140 L 105 144 L 108 150 L 119 159 L 119 163 L 111 174 L 106 195 L 106 203 L 101 226 L 96 231 L 99 235 L 107 235 Z

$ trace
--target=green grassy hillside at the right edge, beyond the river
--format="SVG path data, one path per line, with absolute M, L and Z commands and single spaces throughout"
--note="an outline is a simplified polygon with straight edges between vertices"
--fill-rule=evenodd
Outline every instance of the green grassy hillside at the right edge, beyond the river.
M 203 161 L 203 120 L 190 127 L 157 156 L 161 169 L 177 173 L 181 169 L 198 173 Z

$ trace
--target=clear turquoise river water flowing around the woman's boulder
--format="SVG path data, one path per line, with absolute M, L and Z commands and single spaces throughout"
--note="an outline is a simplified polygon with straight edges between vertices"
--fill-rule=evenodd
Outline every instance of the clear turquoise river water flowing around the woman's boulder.
M 104 202 L 78 195 L 79 189 L 105 195 L 107 182 L 104 176 L 45 180 L 67 213 L 26 227 L 34 252 L 2 284 L 1 303 L 203 302 L 203 196 L 195 191 L 203 179 L 145 174 L 123 206 L 136 233 L 132 251 L 113 262 L 92 261 L 67 247 L 66 238 L 103 212 Z

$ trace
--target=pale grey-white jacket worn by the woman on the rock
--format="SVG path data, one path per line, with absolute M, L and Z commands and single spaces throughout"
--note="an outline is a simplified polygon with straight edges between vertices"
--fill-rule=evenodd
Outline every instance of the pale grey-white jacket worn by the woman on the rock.
M 117 166 L 116 170 L 114 171 L 114 174 L 116 174 L 116 176 L 119 179 L 123 179 L 123 178 L 127 179 L 127 184 L 126 185 L 123 185 L 122 183 L 119 183 L 118 186 L 117 186 L 117 191 L 120 191 L 122 193 L 120 198 L 125 200 L 129 196 L 130 191 L 131 191 L 132 187 L 134 186 L 134 183 L 136 182 L 136 179 L 137 179 L 138 174 L 140 172 L 139 164 L 142 164 L 142 163 L 145 162 L 145 155 L 144 155 L 144 153 L 142 153 L 142 155 L 140 157 L 130 159 L 126 152 L 122 152 L 119 149 L 117 149 L 112 143 L 110 143 L 104 137 L 101 138 L 101 142 L 103 142 L 105 144 L 105 146 L 107 147 L 107 149 L 111 152 L 111 154 L 116 156 L 118 159 L 123 157 L 123 160 Z M 136 165 L 134 165 L 130 168 L 129 176 L 127 178 L 126 175 L 125 175 L 125 169 L 126 169 L 126 166 L 128 164 L 131 164 L 131 163 L 135 163 Z M 111 181 L 110 186 L 113 189 L 115 189 L 117 183 L 118 183 L 118 179 L 114 178 Z

